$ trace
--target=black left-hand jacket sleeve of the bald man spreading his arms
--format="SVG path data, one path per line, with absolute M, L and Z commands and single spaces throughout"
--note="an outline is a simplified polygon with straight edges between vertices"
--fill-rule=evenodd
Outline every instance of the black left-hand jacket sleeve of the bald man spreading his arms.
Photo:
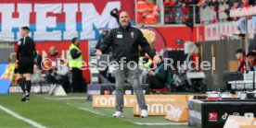
M 111 43 L 113 41 L 113 29 L 111 29 L 109 31 L 109 34 L 107 35 L 106 38 L 104 38 L 102 45 L 99 47 L 99 50 L 101 52 L 105 52 L 109 49 L 109 47 L 111 46 Z

